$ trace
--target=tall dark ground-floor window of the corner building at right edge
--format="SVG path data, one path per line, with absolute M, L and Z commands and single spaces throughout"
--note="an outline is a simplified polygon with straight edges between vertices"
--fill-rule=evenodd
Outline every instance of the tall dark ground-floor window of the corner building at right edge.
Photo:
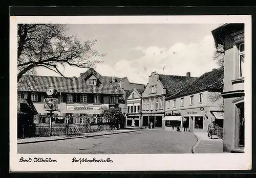
M 239 146 L 244 147 L 244 102 L 237 105 L 239 110 Z

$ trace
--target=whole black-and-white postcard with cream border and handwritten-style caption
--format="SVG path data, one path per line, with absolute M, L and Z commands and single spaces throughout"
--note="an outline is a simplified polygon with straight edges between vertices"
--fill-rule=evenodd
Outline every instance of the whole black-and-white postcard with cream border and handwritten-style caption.
M 10 17 L 10 171 L 249 169 L 250 15 Z

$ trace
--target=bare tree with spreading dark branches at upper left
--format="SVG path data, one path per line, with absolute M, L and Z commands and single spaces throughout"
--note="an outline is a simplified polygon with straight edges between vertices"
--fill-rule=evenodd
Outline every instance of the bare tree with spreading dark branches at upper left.
M 18 24 L 18 74 L 34 74 L 36 67 L 45 67 L 65 77 L 58 65 L 81 68 L 95 67 L 103 57 L 92 46 L 94 41 L 84 44 L 75 36 L 65 35 L 66 24 Z M 96 57 L 97 59 L 94 59 Z

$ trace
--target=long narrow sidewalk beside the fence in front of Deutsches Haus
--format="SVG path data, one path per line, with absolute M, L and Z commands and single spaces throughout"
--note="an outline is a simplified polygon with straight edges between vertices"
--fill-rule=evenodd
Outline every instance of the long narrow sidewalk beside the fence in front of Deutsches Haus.
M 114 131 L 90 132 L 90 133 L 71 135 L 71 136 L 61 135 L 61 136 L 51 136 L 51 137 L 33 137 L 33 138 L 18 139 L 17 144 L 37 143 L 37 142 L 56 141 L 56 140 L 66 140 L 66 139 L 83 138 L 83 137 L 96 137 L 96 136 L 102 136 L 102 135 L 113 135 L 113 134 L 138 132 L 138 131 L 140 131 L 140 129 L 137 129 L 137 130 L 114 130 Z

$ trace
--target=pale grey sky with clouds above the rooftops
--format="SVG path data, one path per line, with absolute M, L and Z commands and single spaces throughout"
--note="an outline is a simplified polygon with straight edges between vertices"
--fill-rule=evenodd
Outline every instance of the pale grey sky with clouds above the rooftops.
M 212 59 L 215 45 L 211 31 L 221 24 L 69 24 L 67 35 L 106 54 L 95 70 L 101 75 L 127 77 L 130 82 L 147 84 L 148 76 L 159 74 L 199 77 L 219 66 Z M 36 68 L 38 75 L 59 76 Z M 60 68 L 66 77 L 79 77 L 87 69 Z

